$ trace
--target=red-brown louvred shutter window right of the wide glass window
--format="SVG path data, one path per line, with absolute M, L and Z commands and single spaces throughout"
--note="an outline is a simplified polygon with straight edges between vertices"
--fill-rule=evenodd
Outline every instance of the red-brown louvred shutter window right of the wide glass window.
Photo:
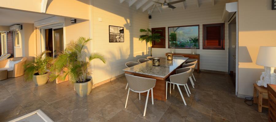
M 203 25 L 203 49 L 224 50 L 224 23 Z

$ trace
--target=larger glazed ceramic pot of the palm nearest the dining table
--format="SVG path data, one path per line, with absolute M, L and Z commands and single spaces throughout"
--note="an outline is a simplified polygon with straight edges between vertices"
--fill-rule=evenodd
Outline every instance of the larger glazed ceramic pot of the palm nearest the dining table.
M 87 82 L 84 83 L 74 83 L 74 89 L 80 97 L 88 96 L 92 90 L 92 85 L 92 79 L 87 79 Z

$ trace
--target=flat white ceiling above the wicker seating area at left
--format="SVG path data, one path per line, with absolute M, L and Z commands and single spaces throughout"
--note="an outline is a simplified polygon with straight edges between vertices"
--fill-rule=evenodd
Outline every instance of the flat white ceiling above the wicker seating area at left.
M 8 9 L 0 9 L 0 25 L 12 26 L 18 23 L 34 23 L 38 20 L 43 20 L 52 17 L 50 15 L 29 13 Z

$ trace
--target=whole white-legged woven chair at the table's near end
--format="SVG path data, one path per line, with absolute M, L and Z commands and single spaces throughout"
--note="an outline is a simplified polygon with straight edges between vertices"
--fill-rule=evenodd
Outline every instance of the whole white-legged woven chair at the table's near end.
M 153 87 L 155 86 L 156 79 L 138 77 L 138 76 L 133 76 L 133 75 L 129 75 L 129 74 L 125 74 L 125 77 L 129 84 L 128 95 L 129 95 L 130 90 L 133 92 L 139 93 L 139 95 L 140 95 L 140 93 L 148 92 L 147 98 L 146 98 L 145 109 L 144 109 L 144 115 L 143 115 L 143 116 L 145 116 L 147 104 L 148 104 L 148 95 L 149 95 L 150 91 L 151 91 L 151 103 L 153 105 Z M 125 102 L 125 108 L 128 103 L 128 95 L 127 95 L 127 99 Z

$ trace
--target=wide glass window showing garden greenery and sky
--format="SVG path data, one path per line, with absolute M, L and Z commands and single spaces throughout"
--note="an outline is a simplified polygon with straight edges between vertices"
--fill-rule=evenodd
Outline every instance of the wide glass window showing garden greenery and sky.
M 168 27 L 169 48 L 191 48 L 199 49 L 199 25 Z

